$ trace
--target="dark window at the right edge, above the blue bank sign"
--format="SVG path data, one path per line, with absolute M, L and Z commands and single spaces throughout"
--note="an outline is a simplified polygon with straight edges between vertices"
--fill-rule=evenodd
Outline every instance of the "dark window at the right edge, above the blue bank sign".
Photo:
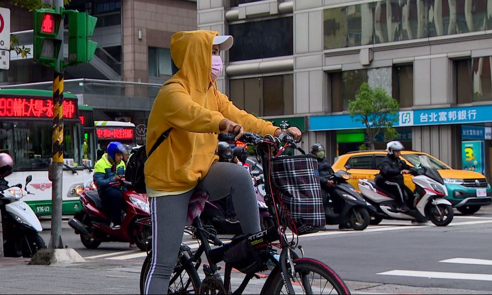
M 457 103 L 492 100 L 490 65 L 490 56 L 454 61 Z

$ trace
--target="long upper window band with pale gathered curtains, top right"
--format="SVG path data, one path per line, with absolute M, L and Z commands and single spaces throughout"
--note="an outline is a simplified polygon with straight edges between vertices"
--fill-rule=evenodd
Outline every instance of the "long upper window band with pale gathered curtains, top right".
M 324 11 L 325 49 L 492 29 L 485 0 L 374 1 Z

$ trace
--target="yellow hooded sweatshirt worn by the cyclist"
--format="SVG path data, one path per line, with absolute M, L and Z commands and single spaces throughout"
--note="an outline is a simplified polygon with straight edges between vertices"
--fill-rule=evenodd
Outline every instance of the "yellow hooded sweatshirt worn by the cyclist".
M 212 46 L 218 32 L 178 32 L 171 58 L 179 71 L 161 87 L 149 116 L 146 148 L 173 127 L 145 163 L 145 183 L 156 191 L 184 192 L 217 162 L 219 123 L 227 118 L 245 131 L 273 134 L 278 127 L 238 109 L 211 82 Z

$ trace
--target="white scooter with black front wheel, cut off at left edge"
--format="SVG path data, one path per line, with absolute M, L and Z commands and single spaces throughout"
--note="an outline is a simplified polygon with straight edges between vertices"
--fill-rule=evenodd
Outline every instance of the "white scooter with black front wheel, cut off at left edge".
M 43 228 L 34 211 L 20 199 L 31 194 L 27 185 L 32 176 L 26 178 L 26 185 L 10 187 L 0 193 L 0 211 L 2 213 L 3 246 L 5 256 L 32 257 L 39 249 L 46 248 L 39 235 Z

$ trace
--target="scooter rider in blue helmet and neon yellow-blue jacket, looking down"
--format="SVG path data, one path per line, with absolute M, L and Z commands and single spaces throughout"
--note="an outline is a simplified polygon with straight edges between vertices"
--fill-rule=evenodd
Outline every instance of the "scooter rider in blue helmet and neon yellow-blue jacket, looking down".
M 107 153 L 95 164 L 93 181 L 97 186 L 97 193 L 103 201 L 104 207 L 111 214 L 112 229 L 121 227 L 121 211 L 123 210 L 123 193 L 119 183 L 125 175 L 123 155 L 127 154 L 125 146 L 119 141 L 111 141 L 106 149 Z

